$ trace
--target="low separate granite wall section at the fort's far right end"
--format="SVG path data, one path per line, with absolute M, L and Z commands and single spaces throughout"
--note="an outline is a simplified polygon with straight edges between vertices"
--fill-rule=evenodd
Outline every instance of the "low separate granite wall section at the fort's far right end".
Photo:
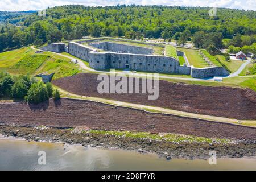
M 229 73 L 224 67 L 191 68 L 191 77 L 193 78 L 209 78 L 227 75 L 229 75 Z

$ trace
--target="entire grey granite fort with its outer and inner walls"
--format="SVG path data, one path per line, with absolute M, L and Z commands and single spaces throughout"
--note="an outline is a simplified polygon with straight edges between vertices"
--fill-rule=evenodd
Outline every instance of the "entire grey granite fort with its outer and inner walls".
M 131 46 L 113 42 L 93 42 L 88 46 L 78 42 L 52 43 L 43 50 L 68 52 L 73 56 L 88 61 L 93 69 L 131 69 L 133 71 L 172 73 L 191 75 L 195 78 L 225 76 L 228 72 L 223 67 L 194 68 L 186 64 L 180 65 L 174 57 L 153 55 L 154 50 L 146 47 Z M 178 56 L 185 56 L 177 51 Z M 184 57 L 187 59 L 187 57 Z

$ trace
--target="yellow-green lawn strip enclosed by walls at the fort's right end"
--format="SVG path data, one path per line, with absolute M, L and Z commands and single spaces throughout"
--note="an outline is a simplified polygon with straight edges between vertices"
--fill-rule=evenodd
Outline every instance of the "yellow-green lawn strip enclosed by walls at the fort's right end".
M 202 56 L 199 55 L 199 51 L 196 49 L 180 48 L 176 47 L 177 50 L 185 52 L 188 62 L 190 65 L 193 65 L 196 68 L 209 67 L 209 64 L 206 63 Z

